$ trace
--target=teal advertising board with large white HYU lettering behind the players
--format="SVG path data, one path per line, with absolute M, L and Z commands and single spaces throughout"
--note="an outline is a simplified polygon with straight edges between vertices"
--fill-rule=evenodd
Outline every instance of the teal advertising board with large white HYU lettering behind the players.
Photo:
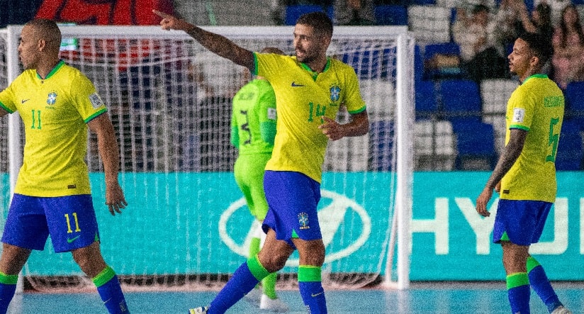
M 491 243 L 494 215 L 482 218 L 474 209 L 488 175 L 415 173 L 411 280 L 504 278 L 500 247 Z M 230 273 L 244 260 L 252 218 L 231 173 L 120 178 L 130 203 L 120 217 L 109 215 L 101 193 L 94 196 L 103 254 L 120 274 Z M 392 179 L 383 173 L 324 175 L 319 218 L 326 225 L 322 233 L 327 269 L 360 271 L 364 260 L 386 254 L 387 189 Z M 103 190 L 103 174 L 91 174 L 91 181 L 95 191 Z M 584 172 L 558 173 L 556 204 L 540 243 L 532 246 L 532 254 L 552 280 L 584 280 L 584 273 L 574 268 L 584 262 L 583 181 Z M 497 201 L 495 194 L 490 203 L 493 213 Z M 6 200 L 0 206 L 6 207 Z M 297 258 L 291 257 L 288 270 L 293 271 Z M 28 269 L 39 275 L 79 271 L 69 254 L 54 254 L 50 245 L 30 257 Z M 381 265 L 382 274 L 384 269 Z

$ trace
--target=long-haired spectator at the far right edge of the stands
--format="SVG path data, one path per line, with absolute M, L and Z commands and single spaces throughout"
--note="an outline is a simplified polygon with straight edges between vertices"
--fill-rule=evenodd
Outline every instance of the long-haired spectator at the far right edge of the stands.
M 584 30 L 578 10 L 571 4 L 563 9 L 552 40 L 554 80 L 561 89 L 584 72 Z

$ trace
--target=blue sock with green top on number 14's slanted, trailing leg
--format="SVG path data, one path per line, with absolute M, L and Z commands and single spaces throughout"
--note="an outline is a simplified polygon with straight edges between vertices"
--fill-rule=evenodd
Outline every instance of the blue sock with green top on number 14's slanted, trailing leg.
M 208 314 L 225 313 L 237 301 L 240 301 L 249 291 L 259 284 L 259 281 L 269 275 L 262 263 L 259 262 L 257 254 L 247 259 L 247 262 L 233 273 L 227 284 L 219 291 L 209 306 Z

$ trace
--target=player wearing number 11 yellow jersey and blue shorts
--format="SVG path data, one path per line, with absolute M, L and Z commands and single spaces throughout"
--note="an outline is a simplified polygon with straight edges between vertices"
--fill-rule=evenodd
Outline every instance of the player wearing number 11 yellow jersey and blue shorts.
M 2 234 L 0 313 L 6 313 L 30 252 L 43 250 L 49 235 L 55 252 L 72 252 L 110 313 L 129 313 L 118 277 L 101 255 L 84 162 L 89 127 L 103 159 L 106 205 L 112 215 L 121 213 L 127 203 L 118 183 L 118 143 L 94 85 L 59 60 L 60 43 L 55 22 L 26 23 L 18 45 L 25 71 L 0 92 L 0 116 L 18 111 L 26 138 Z

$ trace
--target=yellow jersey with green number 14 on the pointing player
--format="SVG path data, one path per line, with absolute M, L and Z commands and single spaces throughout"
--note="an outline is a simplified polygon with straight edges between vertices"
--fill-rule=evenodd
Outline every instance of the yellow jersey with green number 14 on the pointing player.
M 301 172 L 320 183 L 328 138 L 318 128 L 322 116 L 332 120 L 339 106 L 349 113 L 365 110 L 355 70 L 329 58 L 322 73 L 296 57 L 254 53 L 255 73 L 274 87 L 278 120 L 266 170 Z

